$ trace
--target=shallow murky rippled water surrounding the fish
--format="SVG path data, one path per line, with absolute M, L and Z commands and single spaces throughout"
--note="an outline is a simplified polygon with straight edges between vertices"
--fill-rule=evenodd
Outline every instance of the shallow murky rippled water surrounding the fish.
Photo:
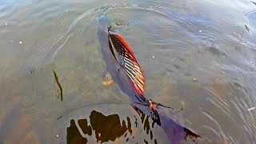
M 256 142 L 254 2 L 10 0 L 0 1 L 0 143 L 167 142 L 118 86 L 102 86 L 99 14 L 134 50 L 146 96 L 183 108 L 166 113 L 198 143 Z M 97 118 L 119 125 L 102 140 Z M 85 121 L 86 139 L 75 128 Z

